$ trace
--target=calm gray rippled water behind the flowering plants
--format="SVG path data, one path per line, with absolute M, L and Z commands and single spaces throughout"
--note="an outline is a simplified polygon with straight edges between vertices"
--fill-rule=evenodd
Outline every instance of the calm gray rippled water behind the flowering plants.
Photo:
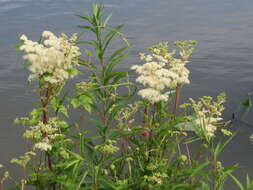
M 82 21 L 74 14 L 90 10 L 93 0 L 0 0 L 0 163 L 21 155 L 25 142 L 22 128 L 13 119 L 25 116 L 36 97 L 26 82 L 21 54 L 15 50 L 21 34 L 33 40 L 43 30 L 79 32 Z M 133 55 L 121 68 L 139 62 L 137 54 L 161 41 L 197 40 L 189 65 L 191 84 L 183 99 L 226 92 L 225 117 L 253 90 L 253 1 L 252 0 L 104 0 L 112 12 L 112 24 L 125 24 L 133 43 Z M 251 122 L 250 115 L 246 118 Z M 241 123 L 240 132 L 223 155 L 226 165 L 239 163 L 253 177 L 253 130 Z M 13 166 L 11 170 L 15 171 Z M 230 189 L 237 189 L 231 187 Z

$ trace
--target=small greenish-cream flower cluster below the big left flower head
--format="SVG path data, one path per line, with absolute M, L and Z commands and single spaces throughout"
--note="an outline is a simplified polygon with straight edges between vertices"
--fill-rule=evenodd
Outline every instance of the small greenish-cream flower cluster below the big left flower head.
M 57 137 L 64 137 L 60 133 L 66 122 L 60 121 L 58 118 L 51 118 L 48 124 L 39 122 L 35 126 L 30 126 L 24 133 L 24 138 L 31 139 L 35 142 L 34 149 L 41 151 L 50 151 L 53 147 L 53 142 Z

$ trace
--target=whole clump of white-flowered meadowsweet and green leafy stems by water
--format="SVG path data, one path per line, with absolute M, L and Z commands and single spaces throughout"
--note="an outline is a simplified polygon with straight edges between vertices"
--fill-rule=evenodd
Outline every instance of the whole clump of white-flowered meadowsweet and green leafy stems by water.
M 140 54 L 140 64 L 120 71 L 130 46 L 123 25 L 111 26 L 98 4 L 77 16 L 79 35 L 20 38 L 39 103 L 15 120 L 29 148 L 10 162 L 23 176 L 14 180 L 0 164 L 0 190 L 7 180 L 17 190 L 224 190 L 229 177 L 252 189 L 249 177 L 244 187 L 233 175 L 238 165 L 225 167 L 220 159 L 234 137 L 222 118 L 225 94 L 180 106 L 196 41 L 158 43 Z M 83 70 L 86 77 L 64 94 L 65 83 Z

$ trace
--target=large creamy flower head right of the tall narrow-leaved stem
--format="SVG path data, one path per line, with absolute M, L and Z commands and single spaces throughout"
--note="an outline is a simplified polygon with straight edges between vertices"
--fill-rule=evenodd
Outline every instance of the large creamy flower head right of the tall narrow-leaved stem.
M 161 100 L 167 101 L 168 93 L 163 93 L 165 88 L 173 89 L 190 83 L 190 72 L 185 65 L 189 62 L 189 54 L 193 49 L 186 51 L 184 47 L 182 48 L 179 53 L 181 59 L 175 58 L 176 50 L 169 51 L 168 43 L 160 43 L 151 47 L 150 54 L 140 54 L 140 59 L 145 61 L 145 64 L 134 65 L 131 69 L 140 75 L 136 81 L 146 87 L 138 92 L 142 98 L 152 104 Z

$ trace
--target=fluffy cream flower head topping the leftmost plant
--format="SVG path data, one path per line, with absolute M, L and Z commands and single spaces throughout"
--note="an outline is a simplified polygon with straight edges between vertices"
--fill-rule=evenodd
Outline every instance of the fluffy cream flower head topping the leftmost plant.
M 32 73 L 28 80 L 44 77 L 51 84 L 63 82 L 77 74 L 73 65 L 81 55 L 75 46 L 77 35 L 70 39 L 65 34 L 55 36 L 50 31 L 44 31 L 41 42 L 33 42 L 25 35 L 20 37 L 23 44 L 20 50 L 25 52 L 23 58 L 29 63 L 28 70 Z

